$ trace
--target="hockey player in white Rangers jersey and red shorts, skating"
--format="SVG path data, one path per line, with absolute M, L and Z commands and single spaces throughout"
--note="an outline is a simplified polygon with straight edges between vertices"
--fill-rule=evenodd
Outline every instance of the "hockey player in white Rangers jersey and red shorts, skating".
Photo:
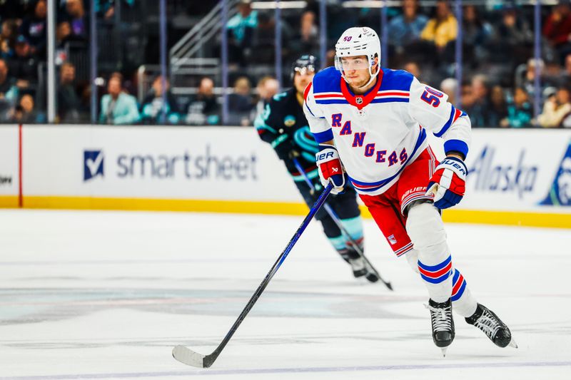
M 510 329 L 476 302 L 453 266 L 440 210 L 458 204 L 468 174 L 468 115 L 406 71 L 380 67 L 373 29 L 350 28 L 335 44 L 335 67 L 317 73 L 304 93 L 323 185 L 343 190 L 348 175 L 395 255 L 405 257 L 428 289 L 433 341 L 445 353 L 454 339 L 452 310 L 497 346 L 515 346 Z M 443 138 L 439 164 L 427 133 Z

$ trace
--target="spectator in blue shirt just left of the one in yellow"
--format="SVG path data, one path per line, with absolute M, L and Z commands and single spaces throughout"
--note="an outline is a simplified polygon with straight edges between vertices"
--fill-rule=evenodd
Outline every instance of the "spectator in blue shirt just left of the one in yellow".
M 428 23 L 428 17 L 418 14 L 418 0 L 404 0 L 403 14 L 393 17 L 388 23 L 388 38 L 391 45 L 402 53 L 403 48 L 418 41 Z

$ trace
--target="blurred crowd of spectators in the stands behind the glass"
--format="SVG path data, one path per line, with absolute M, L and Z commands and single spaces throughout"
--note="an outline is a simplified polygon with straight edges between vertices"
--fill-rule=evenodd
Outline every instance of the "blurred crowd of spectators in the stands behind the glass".
M 93 5 L 98 22 L 111 23 L 119 3 L 135 12 L 140 11 L 137 6 L 142 1 L 96 0 Z M 183 4 L 186 13 L 198 22 L 213 7 L 206 3 L 189 0 Z M 290 62 L 305 53 L 319 56 L 318 3 L 309 0 L 305 9 L 283 11 L 284 72 L 279 79 L 284 87 L 290 86 Z M 332 66 L 337 36 L 355 25 L 370 26 L 380 32 L 380 12 L 344 8 L 342 0 L 329 3 L 327 41 L 331 48 L 323 60 Z M 58 0 L 56 4 L 57 121 L 89 123 L 89 76 L 73 58 L 78 54 L 89 56 L 90 9 L 86 6 L 91 6 L 91 1 Z M 458 20 L 452 6 L 443 0 L 430 7 L 420 6 L 416 0 L 404 0 L 402 6 L 388 9 L 388 67 L 405 69 L 420 81 L 441 88 L 450 101 L 470 115 L 474 127 L 571 127 L 571 1 L 542 6 L 539 61 L 532 58 L 533 6 L 512 1 L 503 1 L 499 6 L 463 6 L 461 83 L 455 79 Z M 253 9 L 251 0 L 239 1 L 237 11 L 224 31 L 228 36 L 233 87 L 228 96 L 228 125 L 248 126 L 264 102 L 281 90 L 273 66 L 276 20 L 273 9 Z M 45 122 L 46 0 L 0 0 L 0 22 L 0 123 Z M 169 37 L 172 46 L 180 35 Z M 210 56 L 219 57 L 220 39 L 214 38 Z M 221 83 L 214 76 L 199 78 L 196 91 L 186 96 L 171 92 L 168 78 L 155 76 L 146 95 L 136 98 L 137 86 L 141 86 L 136 81 L 136 69 L 155 63 L 151 61 L 156 59 L 157 51 L 153 36 L 146 36 L 144 41 L 139 38 L 136 43 L 141 45 L 143 58 L 125 53 L 120 65 L 103 66 L 105 69 L 100 70 L 99 123 L 221 124 L 221 96 L 216 91 Z M 541 76 L 541 111 L 537 118 L 533 111 L 536 67 Z M 456 99 L 458 92 L 460 99 Z

